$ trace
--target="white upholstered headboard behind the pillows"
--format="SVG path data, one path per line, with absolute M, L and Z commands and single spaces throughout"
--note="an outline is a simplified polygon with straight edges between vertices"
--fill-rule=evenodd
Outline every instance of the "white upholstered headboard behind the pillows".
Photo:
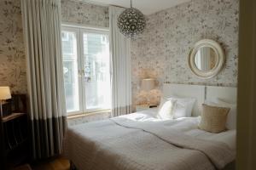
M 223 99 L 236 103 L 236 88 L 164 83 L 163 97 L 171 96 L 195 98 L 192 116 L 200 116 L 201 105 L 205 100 Z

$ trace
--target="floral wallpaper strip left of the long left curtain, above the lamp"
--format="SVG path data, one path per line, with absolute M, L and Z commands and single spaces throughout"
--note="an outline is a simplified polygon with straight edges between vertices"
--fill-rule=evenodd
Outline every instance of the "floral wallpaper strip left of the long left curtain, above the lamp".
M 0 86 L 26 94 L 26 58 L 20 0 L 0 1 Z

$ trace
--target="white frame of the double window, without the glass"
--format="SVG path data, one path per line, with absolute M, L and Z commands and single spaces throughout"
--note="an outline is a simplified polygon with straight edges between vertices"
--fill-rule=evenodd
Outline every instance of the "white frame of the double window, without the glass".
M 79 111 L 67 111 L 68 116 L 74 116 L 79 114 L 89 114 L 91 112 L 99 111 L 109 111 L 111 109 L 111 96 L 110 96 L 110 105 L 108 108 L 96 108 L 96 109 L 86 109 L 86 90 L 85 90 L 85 81 L 84 77 L 84 33 L 96 33 L 107 35 L 109 38 L 109 30 L 102 28 L 93 28 L 93 27 L 84 27 L 84 26 L 73 26 L 73 25 L 62 25 L 62 31 L 71 31 L 75 32 L 77 35 L 77 62 L 78 62 L 78 79 L 79 79 Z M 61 40 L 62 42 L 62 40 Z M 110 44 L 109 44 L 110 47 Z M 110 62 L 110 49 L 109 49 L 109 62 Z M 109 76 L 111 77 L 111 71 L 109 70 Z M 110 80 L 109 80 L 110 81 Z M 110 86 L 111 87 L 111 86 Z M 111 89 L 109 89 L 111 90 Z M 111 94 L 110 94 L 111 95 Z

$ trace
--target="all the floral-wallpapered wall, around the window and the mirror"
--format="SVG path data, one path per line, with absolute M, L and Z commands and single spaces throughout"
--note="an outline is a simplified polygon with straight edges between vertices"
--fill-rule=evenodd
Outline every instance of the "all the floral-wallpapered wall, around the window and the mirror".
M 139 93 L 144 77 L 162 82 L 205 84 L 187 65 L 192 45 L 202 38 L 219 42 L 227 56 L 224 70 L 207 81 L 219 86 L 236 86 L 239 0 L 192 0 L 148 16 L 142 36 L 132 41 L 133 102 L 145 99 Z M 61 0 L 62 21 L 86 26 L 108 27 L 108 8 L 76 0 Z M 26 93 L 26 59 L 20 0 L 0 1 L 0 86 Z M 160 91 L 150 96 L 159 99 Z M 155 100 L 152 99 L 152 100 Z

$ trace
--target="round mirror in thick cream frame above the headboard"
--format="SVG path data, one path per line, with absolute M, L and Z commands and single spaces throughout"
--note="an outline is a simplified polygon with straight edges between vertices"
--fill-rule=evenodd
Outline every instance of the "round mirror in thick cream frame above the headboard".
M 214 77 L 223 66 L 224 51 L 218 42 L 205 39 L 195 43 L 189 54 L 189 68 L 197 77 Z

